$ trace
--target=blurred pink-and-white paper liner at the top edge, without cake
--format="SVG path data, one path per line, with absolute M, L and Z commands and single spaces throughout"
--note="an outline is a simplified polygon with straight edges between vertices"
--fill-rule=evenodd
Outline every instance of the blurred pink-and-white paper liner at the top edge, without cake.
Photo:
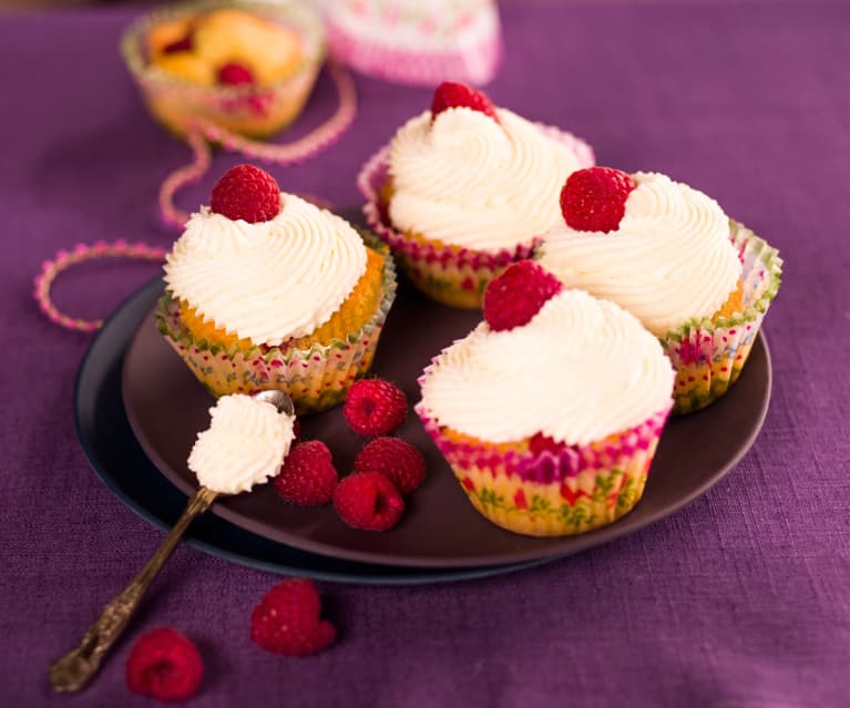
M 422 27 L 421 49 L 417 50 L 388 42 L 387 35 L 381 41 L 348 28 L 342 17 L 345 13 L 339 8 L 331 8 L 327 12 L 331 55 L 360 73 L 410 85 L 434 86 L 447 76 L 473 84 L 484 84 L 493 79 L 504 51 L 495 7 L 479 4 L 478 18 L 470 17 L 473 13 L 469 12 L 468 17 L 458 18 L 458 27 L 443 28 L 444 32 L 451 33 L 451 41 L 433 37 L 432 18 L 427 17 L 427 8 L 420 9 L 423 17 L 416 21 Z M 485 14 L 488 17 L 483 17 Z M 475 20 L 480 27 L 469 27 Z M 376 27 L 385 28 L 387 32 L 401 21 L 392 8 L 388 8 L 385 17 L 375 19 Z M 408 19 L 408 23 L 412 22 L 412 18 Z

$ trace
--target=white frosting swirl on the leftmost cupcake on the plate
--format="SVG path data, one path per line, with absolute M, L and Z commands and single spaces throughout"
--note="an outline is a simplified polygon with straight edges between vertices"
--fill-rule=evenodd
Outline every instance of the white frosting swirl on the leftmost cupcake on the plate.
M 165 260 L 176 297 L 254 345 L 309 335 L 366 273 L 366 247 L 348 222 L 291 194 L 280 201 L 280 213 L 258 224 L 202 207 Z

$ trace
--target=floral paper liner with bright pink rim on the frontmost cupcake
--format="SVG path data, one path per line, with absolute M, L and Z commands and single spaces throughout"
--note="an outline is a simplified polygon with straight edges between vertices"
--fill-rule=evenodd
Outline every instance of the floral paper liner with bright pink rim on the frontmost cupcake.
M 471 441 L 417 413 L 472 505 L 529 536 L 564 536 L 613 523 L 641 500 L 669 407 L 603 441 L 560 452 Z

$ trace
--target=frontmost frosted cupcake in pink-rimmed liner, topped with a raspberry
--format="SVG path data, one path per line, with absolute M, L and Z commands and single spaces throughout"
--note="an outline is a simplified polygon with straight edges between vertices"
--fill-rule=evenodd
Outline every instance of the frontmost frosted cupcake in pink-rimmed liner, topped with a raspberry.
M 481 514 L 559 536 L 638 502 L 673 383 L 633 315 L 526 260 L 490 284 L 484 321 L 426 369 L 416 410 Z

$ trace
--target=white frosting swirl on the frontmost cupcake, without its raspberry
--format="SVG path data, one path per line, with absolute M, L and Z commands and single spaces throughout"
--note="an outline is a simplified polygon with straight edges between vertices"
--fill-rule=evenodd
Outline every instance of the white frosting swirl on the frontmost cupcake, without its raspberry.
M 674 376 L 634 316 L 563 290 L 528 325 L 482 322 L 440 353 L 422 379 L 422 407 L 440 425 L 494 443 L 542 432 L 586 444 L 664 410 Z

